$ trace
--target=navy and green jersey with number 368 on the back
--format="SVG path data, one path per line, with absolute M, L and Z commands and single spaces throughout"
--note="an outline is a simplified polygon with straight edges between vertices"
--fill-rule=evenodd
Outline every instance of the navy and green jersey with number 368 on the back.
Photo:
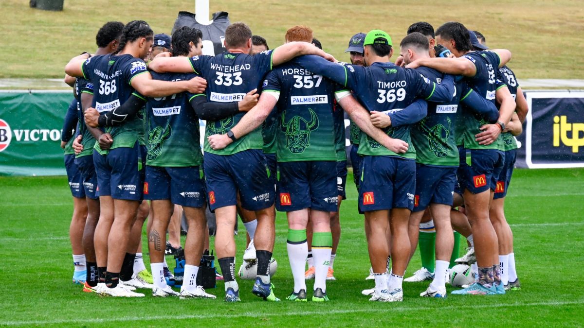
M 140 58 L 130 54 L 97 55 L 88 58 L 81 68 L 84 78 L 93 83 L 92 106 L 99 113 L 116 109 L 133 94 L 144 98 L 130 84 L 134 76 L 148 72 L 146 63 Z M 138 138 L 144 135 L 142 116 L 141 110 L 137 116 L 128 119 L 124 124 L 102 129 L 112 135 L 113 144 L 110 149 L 134 146 Z M 99 147 L 99 142 L 95 143 L 95 149 L 102 155 L 107 153 Z

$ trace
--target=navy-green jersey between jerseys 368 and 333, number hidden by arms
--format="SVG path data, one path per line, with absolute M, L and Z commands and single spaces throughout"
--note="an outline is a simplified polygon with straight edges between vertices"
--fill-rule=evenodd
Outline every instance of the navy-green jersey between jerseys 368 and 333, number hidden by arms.
M 152 78 L 161 81 L 186 81 L 194 73 L 152 72 Z M 172 96 L 148 98 L 146 103 L 146 165 L 164 167 L 198 166 L 203 163 L 200 148 L 199 117 L 190 106 L 193 95 L 188 92 Z

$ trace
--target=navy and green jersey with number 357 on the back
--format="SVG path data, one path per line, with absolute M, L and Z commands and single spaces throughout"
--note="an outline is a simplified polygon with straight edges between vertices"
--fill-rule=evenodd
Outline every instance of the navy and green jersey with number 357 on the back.
M 278 162 L 337 160 L 334 98 L 348 90 L 289 62 L 266 76 L 264 92 L 277 99 Z M 342 115 L 340 107 L 336 110 Z

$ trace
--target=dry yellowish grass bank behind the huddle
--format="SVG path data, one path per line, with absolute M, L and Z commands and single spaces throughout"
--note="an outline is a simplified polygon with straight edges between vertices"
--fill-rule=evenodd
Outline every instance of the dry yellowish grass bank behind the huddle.
M 356 32 L 381 28 L 394 45 L 411 23 L 426 20 L 437 28 L 459 20 L 485 34 L 491 47 L 509 48 L 510 64 L 521 78 L 584 78 L 580 36 L 584 7 L 573 0 L 311 1 L 213 0 L 211 12 L 227 11 L 274 47 L 288 27 L 312 27 L 326 51 L 339 60 Z M 24 0 L 0 1 L 4 51 L 0 78 L 61 78 L 68 60 L 95 50 L 95 34 L 108 20 L 144 19 L 155 33 L 170 33 L 179 11 L 194 12 L 194 0 L 65 1 L 62 12 L 29 8 Z M 394 57 L 395 58 L 395 57 Z

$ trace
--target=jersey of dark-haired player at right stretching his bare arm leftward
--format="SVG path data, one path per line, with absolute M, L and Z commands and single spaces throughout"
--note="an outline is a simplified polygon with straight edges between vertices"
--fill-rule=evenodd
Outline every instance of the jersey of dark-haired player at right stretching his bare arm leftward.
M 471 51 L 468 54 L 463 55 L 461 58 L 466 58 L 470 60 L 477 69 L 477 73 L 471 78 L 465 78 L 468 86 L 477 92 L 480 96 L 485 97 L 485 99 L 496 103 L 496 71 L 498 70 L 500 58 L 499 55 L 493 53 L 492 51 Z M 480 128 L 482 125 L 488 124 L 484 118 L 471 113 L 470 110 L 464 111 L 464 132 L 463 132 L 463 145 L 464 148 L 468 149 L 499 149 L 500 151 L 505 150 L 503 146 L 503 139 L 501 137 L 497 138 L 495 142 L 491 145 L 481 145 L 475 140 L 475 135 L 481 132 Z

